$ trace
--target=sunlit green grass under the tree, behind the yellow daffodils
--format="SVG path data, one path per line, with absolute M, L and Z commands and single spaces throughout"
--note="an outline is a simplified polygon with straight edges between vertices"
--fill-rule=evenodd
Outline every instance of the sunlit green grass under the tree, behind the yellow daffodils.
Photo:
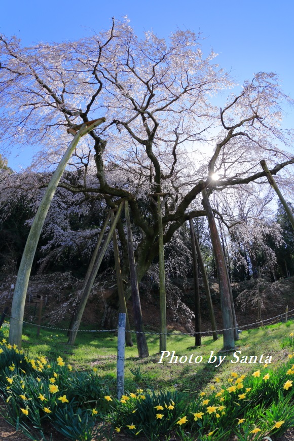
M 60 325 L 60 327 L 65 327 Z M 85 329 L 85 328 L 84 328 Z M 240 340 L 236 342 L 236 350 L 242 351 L 243 355 L 272 355 L 270 366 L 277 366 L 285 361 L 287 354 L 292 352 L 291 347 L 281 347 L 281 342 L 294 330 L 294 325 L 285 323 L 268 325 L 259 329 L 252 329 L 242 332 Z M 8 335 L 8 329 L 4 328 L 5 336 Z M 29 356 L 34 358 L 38 355 L 47 356 L 49 359 L 56 359 L 59 355 L 64 358 L 66 363 L 72 364 L 78 370 L 98 368 L 101 376 L 113 378 L 115 387 L 116 379 L 116 355 L 117 355 L 117 337 L 111 333 L 88 333 L 78 334 L 75 346 L 66 344 L 67 337 L 65 331 L 41 329 L 41 335 L 36 337 L 36 327 L 25 324 L 23 327 L 23 349 Z M 178 356 L 202 355 L 203 361 L 199 364 L 169 363 L 164 361 L 158 363 L 159 338 L 158 336 L 147 335 L 150 356 L 145 359 L 138 358 L 138 352 L 133 335 L 134 346 L 126 347 L 125 361 L 125 382 L 126 389 L 133 389 L 136 386 L 152 389 L 167 390 L 187 390 L 193 393 L 200 389 L 208 388 L 209 383 L 215 377 L 221 380 L 226 378 L 228 373 L 235 371 L 238 374 L 254 371 L 263 367 L 259 363 L 231 363 L 232 353 L 223 353 L 227 355 L 226 360 L 219 366 L 214 367 L 208 364 L 207 360 L 211 351 L 217 354 L 222 350 L 223 337 L 214 342 L 212 337 L 204 337 L 200 348 L 193 347 L 195 339 L 190 336 L 168 336 L 167 350 Z M 265 357 L 264 357 L 265 359 Z M 169 358 L 167 359 L 169 360 Z M 135 379 L 130 369 L 140 366 L 144 375 L 140 380 Z

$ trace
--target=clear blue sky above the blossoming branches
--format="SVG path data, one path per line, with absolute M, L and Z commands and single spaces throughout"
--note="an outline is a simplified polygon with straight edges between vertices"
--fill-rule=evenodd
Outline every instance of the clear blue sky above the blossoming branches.
M 254 72 L 273 71 L 283 80 L 283 90 L 294 98 L 294 2 L 282 0 L 187 1 L 128 0 L 125 2 L 20 1 L 2 3 L 0 32 L 20 36 L 25 46 L 40 41 L 76 40 L 108 28 L 111 17 L 128 15 L 141 35 L 153 29 L 161 38 L 176 27 L 200 30 L 203 50 L 219 54 L 217 62 L 242 83 Z M 287 119 L 294 126 L 294 112 Z M 16 155 L 18 156 L 16 157 Z M 27 150 L 15 149 L 9 157 L 14 169 L 29 164 Z

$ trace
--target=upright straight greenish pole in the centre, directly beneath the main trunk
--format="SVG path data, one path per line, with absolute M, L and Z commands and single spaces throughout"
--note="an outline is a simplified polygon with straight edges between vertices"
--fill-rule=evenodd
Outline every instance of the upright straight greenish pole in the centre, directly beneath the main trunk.
M 165 292 L 165 269 L 163 249 L 163 226 L 161 213 L 161 195 L 157 195 L 158 216 L 158 246 L 159 246 L 159 309 L 160 309 L 160 336 L 159 352 L 166 351 L 166 292 Z

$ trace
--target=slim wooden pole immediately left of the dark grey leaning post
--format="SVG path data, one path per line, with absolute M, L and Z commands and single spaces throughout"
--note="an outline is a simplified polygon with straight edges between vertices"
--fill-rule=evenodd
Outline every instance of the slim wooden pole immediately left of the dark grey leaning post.
M 115 219 L 114 210 L 111 210 L 112 224 L 114 222 L 114 219 Z M 116 276 L 117 276 L 117 286 L 118 286 L 120 308 L 121 308 L 121 312 L 126 314 L 126 345 L 133 346 L 132 335 L 130 333 L 131 328 L 130 328 L 129 316 L 128 316 L 128 311 L 127 311 L 127 304 L 126 304 L 126 299 L 125 299 L 125 294 L 124 294 L 124 285 L 123 285 L 123 278 L 122 278 L 122 271 L 121 271 L 120 255 L 119 255 L 119 247 L 118 247 L 118 239 L 117 239 L 116 230 L 114 231 L 114 234 L 113 234 L 113 245 L 114 245 L 115 266 L 116 266 Z

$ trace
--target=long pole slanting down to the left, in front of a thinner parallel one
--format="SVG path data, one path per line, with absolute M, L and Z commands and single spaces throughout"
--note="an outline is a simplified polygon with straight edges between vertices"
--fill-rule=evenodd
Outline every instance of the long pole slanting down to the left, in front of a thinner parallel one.
M 104 254 L 106 252 L 106 249 L 107 249 L 107 247 L 109 245 L 109 242 L 112 239 L 112 236 L 114 234 L 115 228 L 116 228 L 117 223 L 119 221 L 119 218 L 121 216 L 121 212 L 122 212 L 123 206 L 124 206 L 124 200 L 122 200 L 121 203 L 120 203 L 119 209 L 118 209 L 117 214 L 116 214 L 115 219 L 114 219 L 114 222 L 111 225 L 111 228 L 109 229 L 109 231 L 107 233 L 107 236 L 106 236 L 106 238 L 105 238 L 105 240 L 104 240 L 104 242 L 103 242 L 103 244 L 101 246 L 99 254 L 96 257 L 95 263 L 94 263 L 93 268 L 91 270 L 91 274 L 90 274 L 90 276 L 89 276 L 89 278 L 88 278 L 88 280 L 87 280 L 87 282 L 85 284 L 85 289 L 84 289 L 84 292 L 83 292 L 80 304 L 78 306 L 78 310 L 77 310 L 77 313 L 76 313 L 75 320 L 73 321 L 73 324 L 72 324 L 72 330 L 71 330 L 71 333 L 70 333 L 70 337 L 68 339 L 68 344 L 70 344 L 70 345 L 73 345 L 75 343 L 75 340 L 76 340 L 76 337 L 77 337 L 77 334 L 78 334 L 78 329 L 79 329 L 79 326 L 80 326 L 80 323 L 81 323 L 81 320 L 82 320 L 82 317 L 83 317 L 83 313 L 84 313 L 84 310 L 85 310 L 88 298 L 90 296 L 91 289 L 93 287 L 93 284 L 94 284 L 95 278 L 97 276 L 98 270 L 100 268 L 101 262 L 102 262 L 102 260 L 104 258 Z

